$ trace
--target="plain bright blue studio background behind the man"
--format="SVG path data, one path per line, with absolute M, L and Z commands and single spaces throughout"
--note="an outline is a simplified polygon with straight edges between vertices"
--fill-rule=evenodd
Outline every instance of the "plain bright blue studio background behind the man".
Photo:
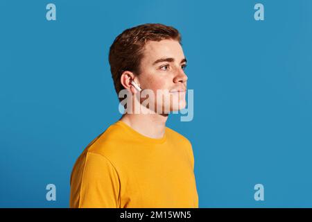
M 144 23 L 182 33 L 194 119 L 168 127 L 193 144 L 200 207 L 312 207 L 308 0 L 1 0 L 0 207 L 69 207 L 76 158 L 121 117 L 109 47 Z

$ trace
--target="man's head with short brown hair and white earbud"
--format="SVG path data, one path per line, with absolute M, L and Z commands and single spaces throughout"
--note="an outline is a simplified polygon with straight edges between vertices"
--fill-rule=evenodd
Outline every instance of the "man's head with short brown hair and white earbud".
M 121 89 L 136 93 L 131 85 L 134 80 L 142 89 L 167 89 L 171 103 L 156 106 L 170 106 L 170 110 L 184 108 L 187 76 L 184 74 L 186 59 L 181 46 L 180 33 L 163 24 L 143 24 L 121 33 L 110 47 L 110 67 L 117 94 Z

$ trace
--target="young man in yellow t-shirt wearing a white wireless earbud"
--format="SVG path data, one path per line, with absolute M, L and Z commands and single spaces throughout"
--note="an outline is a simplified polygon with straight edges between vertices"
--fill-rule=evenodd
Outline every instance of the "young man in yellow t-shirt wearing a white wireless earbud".
M 114 40 L 109 60 L 117 94 L 128 92 L 130 112 L 78 157 L 70 207 L 198 207 L 191 143 L 166 127 L 163 111 L 186 106 L 180 33 L 162 24 L 129 28 Z M 157 98 L 159 89 L 169 100 Z M 143 105 L 144 90 L 155 95 L 149 105 Z M 129 101 L 139 102 L 141 112 L 131 112 Z

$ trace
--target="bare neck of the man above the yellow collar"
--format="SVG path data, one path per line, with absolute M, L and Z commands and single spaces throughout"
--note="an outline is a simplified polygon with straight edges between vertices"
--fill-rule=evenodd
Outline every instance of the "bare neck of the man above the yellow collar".
M 146 137 L 164 136 L 168 114 L 123 114 L 121 121 Z

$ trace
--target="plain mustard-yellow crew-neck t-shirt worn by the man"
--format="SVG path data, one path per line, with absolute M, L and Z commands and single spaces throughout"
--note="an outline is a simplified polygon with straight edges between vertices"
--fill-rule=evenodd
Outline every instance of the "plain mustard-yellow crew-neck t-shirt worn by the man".
M 198 207 L 189 140 L 166 127 L 164 137 L 141 135 L 116 121 L 78 157 L 70 207 Z

